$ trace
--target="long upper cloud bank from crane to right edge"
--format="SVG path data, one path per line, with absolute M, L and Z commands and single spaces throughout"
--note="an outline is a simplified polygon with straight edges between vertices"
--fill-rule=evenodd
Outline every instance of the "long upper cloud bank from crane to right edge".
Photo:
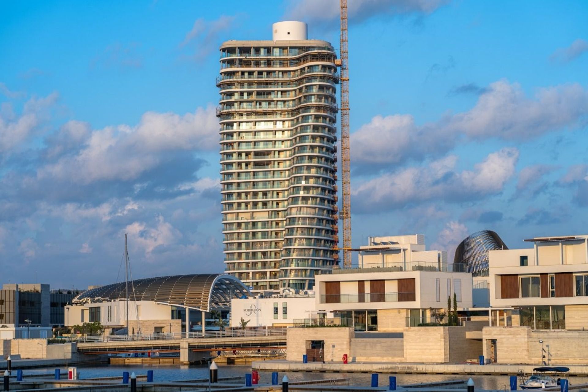
M 410 115 L 375 116 L 351 135 L 354 163 L 383 164 L 438 156 L 460 138 L 528 140 L 586 123 L 588 91 L 579 84 L 538 89 L 527 98 L 520 85 L 497 81 L 467 112 L 415 125 Z

